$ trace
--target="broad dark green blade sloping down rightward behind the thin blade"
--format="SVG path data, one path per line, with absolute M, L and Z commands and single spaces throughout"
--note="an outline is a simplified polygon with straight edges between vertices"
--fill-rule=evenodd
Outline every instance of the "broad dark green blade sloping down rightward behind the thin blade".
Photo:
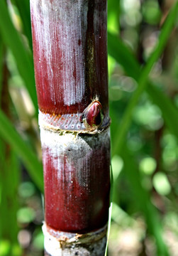
M 126 53 L 126 59 L 123 58 L 123 52 Z M 123 66 L 124 70 L 126 70 L 126 73 L 130 75 L 130 77 L 138 80 L 140 75 L 138 61 L 135 60 L 134 56 L 128 50 L 128 47 L 126 47 L 117 36 L 114 36 L 111 33 L 109 33 L 109 54 L 111 54 L 111 56 Z M 147 83 L 148 86 L 145 88 L 146 92 L 148 92 L 150 99 L 155 103 L 155 105 L 160 107 L 162 117 L 165 119 L 170 132 L 172 132 L 178 138 L 177 108 L 172 104 L 171 100 L 169 100 L 169 97 L 167 97 L 164 92 L 157 89 L 157 87 L 153 85 L 150 80 L 148 80 Z

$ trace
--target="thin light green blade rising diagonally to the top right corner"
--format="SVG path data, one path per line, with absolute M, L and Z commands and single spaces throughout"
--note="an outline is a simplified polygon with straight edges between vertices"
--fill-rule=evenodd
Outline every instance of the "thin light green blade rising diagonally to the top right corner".
M 157 46 L 156 46 L 155 50 L 153 51 L 152 55 L 150 56 L 148 63 L 145 65 L 145 67 L 140 72 L 140 76 L 138 78 L 138 87 L 135 90 L 135 92 L 133 93 L 133 97 L 131 98 L 131 100 L 128 104 L 128 107 L 126 108 L 126 111 L 123 114 L 123 119 L 121 120 L 119 134 L 118 134 L 118 137 L 116 138 L 116 142 L 113 147 L 113 154 L 115 154 L 116 152 L 118 152 L 118 153 L 121 152 L 124 138 L 126 137 L 126 133 L 130 126 L 133 108 L 137 104 L 137 102 L 140 98 L 140 95 L 145 90 L 145 87 L 147 85 L 148 75 L 150 73 L 150 70 L 152 69 L 152 66 L 156 62 L 157 58 L 159 58 L 160 54 L 162 53 L 162 50 L 164 49 L 164 47 L 167 43 L 169 35 L 172 31 L 172 26 L 174 24 L 175 19 L 177 18 L 177 11 L 178 11 L 178 3 L 174 4 L 171 11 L 169 12 L 169 15 L 167 16 L 167 19 L 164 23 L 164 26 L 162 27 L 162 31 L 160 33 L 160 38 L 157 43 Z

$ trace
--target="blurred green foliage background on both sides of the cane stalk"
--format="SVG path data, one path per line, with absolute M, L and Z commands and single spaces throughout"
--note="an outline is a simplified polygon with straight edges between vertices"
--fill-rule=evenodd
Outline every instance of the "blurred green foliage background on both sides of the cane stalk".
M 108 0 L 109 256 L 177 256 L 177 5 Z M 40 256 L 43 171 L 29 0 L 0 1 L 0 105 L 0 256 Z

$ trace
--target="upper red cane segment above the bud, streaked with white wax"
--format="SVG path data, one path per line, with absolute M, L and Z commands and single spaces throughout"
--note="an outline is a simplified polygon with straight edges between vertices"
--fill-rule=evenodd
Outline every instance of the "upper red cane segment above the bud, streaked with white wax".
M 49 2 L 49 0 L 46 0 L 46 2 Z M 48 17 L 43 14 L 42 7 L 39 7 L 37 10 L 38 18 L 36 18 L 33 4 L 31 4 L 33 57 L 39 108 L 42 112 L 50 114 L 82 112 L 98 96 L 103 106 L 104 114 L 108 114 L 106 0 L 76 1 L 81 2 L 82 8 L 78 21 L 82 27 L 82 34 L 79 38 L 74 36 L 74 34 L 78 35 L 79 27 L 72 27 L 72 33 L 65 34 L 65 27 L 72 26 L 72 10 L 69 9 L 67 4 L 64 4 L 64 1 L 59 0 L 58 2 L 60 6 L 64 6 L 63 12 L 70 16 L 70 19 L 69 21 L 65 21 L 62 18 L 57 19 L 55 9 L 52 9 L 52 7 L 49 9 L 49 12 L 51 12 L 50 28 L 48 29 L 48 38 L 51 39 L 50 63 L 45 58 L 45 52 L 48 49 L 43 50 L 46 29 L 44 23 Z M 73 4 L 74 8 L 75 4 Z M 82 14 L 82 11 L 85 13 Z M 41 36 L 40 38 L 41 41 L 39 41 L 38 35 L 35 33 L 37 23 L 38 26 L 40 23 L 41 33 L 44 33 L 44 37 Z M 62 48 L 62 44 L 66 41 L 71 46 L 71 65 L 65 61 L 69 52 Z M 82 59 L 77 57 L 79 55 L 83 56 Z M 75 88 L 70 88 L 71 85 L 66 84 L 68 77 L 74 82 Z M 78 99 L 74 100 L 76 102 L 74 104 L 67 103 L 64 100 L 65 86 L 68 87 L 68 90 L 77 92 L 81 82 L 85 84 L 82 98 L 80 98 L 80 101 Z M 50 90 L 51 87 L 53 88 L 52 90 Z M 78 97 L 77 93 L 75 97 Z

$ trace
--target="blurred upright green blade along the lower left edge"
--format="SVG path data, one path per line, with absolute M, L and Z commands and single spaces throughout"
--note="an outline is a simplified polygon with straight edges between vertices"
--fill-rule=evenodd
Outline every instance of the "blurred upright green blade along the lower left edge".
M 3 144 L 3 145 L 2 145 Z M 8 152 L 8 153 L 7 153 Z M 9 145 L 1 140 L 1 239 L 9 240 L 9 255 L 13 255 L 13 246 L 18 245 L 18 225 L 16 211 L 18 210 L 18 198 L 16 191 L 20 180 L 17 157 L 9 148 Z

